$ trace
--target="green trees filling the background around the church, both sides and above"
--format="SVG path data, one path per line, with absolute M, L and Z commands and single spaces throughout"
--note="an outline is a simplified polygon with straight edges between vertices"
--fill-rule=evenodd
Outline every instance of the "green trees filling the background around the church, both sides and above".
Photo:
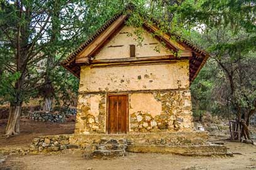
M 131 4 L 127 24 L 139 27 L 140 16 L 157 19 L 161 31 L 180 34 L 210 54 L 191 84 L 194 116 L 237 119 L 241 135 L 250 138 L 256 110 L 256 1 L 246 0 L 0 0 L 0 104 L 9 104 L 6 135 L 19 133 L 21 108 L 31 99 L 41 99 L 46 111 L 72 104 L 78 79 L 60 61 Z

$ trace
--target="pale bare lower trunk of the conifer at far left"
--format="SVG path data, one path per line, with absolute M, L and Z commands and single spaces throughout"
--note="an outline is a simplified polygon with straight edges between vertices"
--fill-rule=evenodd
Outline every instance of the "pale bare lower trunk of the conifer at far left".
M 9 119 L 6 126 L 5 136 L 11 136 L 19 134 L 19 119 L 21 116 L 21 104 L 11 104 L 9 109 Z

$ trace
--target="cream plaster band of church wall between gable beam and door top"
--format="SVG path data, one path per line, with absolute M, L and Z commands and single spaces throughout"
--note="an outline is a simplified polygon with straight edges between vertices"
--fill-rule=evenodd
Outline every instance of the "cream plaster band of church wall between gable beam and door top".
M 90 68 L 82 66 L 80 92 L 136 91 L 189 87 L 189 62 Z

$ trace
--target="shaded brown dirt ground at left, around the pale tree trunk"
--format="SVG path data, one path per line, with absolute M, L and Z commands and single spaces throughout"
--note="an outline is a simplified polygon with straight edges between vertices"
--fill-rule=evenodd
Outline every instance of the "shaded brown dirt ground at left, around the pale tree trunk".
M 37 136 L 50 134 L 72 134 L 75 129 L 75 122 L 73 121 L 56 124 L 36 122 L 23 118 L 20 121 L 21 133 L 17 136 L 6 138 L 3 134 L 7 122 L 7 119 L 0 119 L 0 148 L 8 146 L 28 147 L 31 144 L 31 141 Z

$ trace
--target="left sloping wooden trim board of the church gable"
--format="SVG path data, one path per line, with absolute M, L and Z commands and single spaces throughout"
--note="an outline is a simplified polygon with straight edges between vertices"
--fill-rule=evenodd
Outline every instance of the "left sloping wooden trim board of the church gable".
M 127 15 L 121 15 L 115 22 L 113 22 L 100 36 L 93 40 L 85 49 L 83 49 L 80 53 L 77 54 L 75 63 L 83 63 L 83 58 L 89 58 L 95 53 L 101 46 L 104 44 L 107 39 L 124 24 L 125 19 L 127 19 Z

